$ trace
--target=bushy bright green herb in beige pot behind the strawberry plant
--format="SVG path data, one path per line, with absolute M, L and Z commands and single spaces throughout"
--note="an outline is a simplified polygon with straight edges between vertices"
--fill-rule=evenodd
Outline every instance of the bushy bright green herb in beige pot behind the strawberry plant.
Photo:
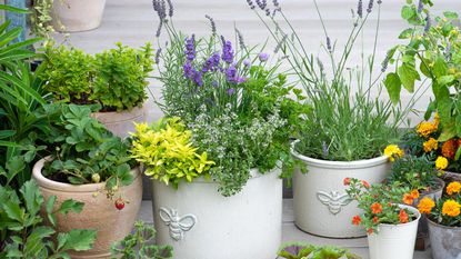
M 108 109 L 130 110 L 147 99 L 146 78 L 152 71 L 150 44 L 140 50 L 117 43 L 117 49 L 94 57 L 94 86 L 90 99 L 100 101 Z

